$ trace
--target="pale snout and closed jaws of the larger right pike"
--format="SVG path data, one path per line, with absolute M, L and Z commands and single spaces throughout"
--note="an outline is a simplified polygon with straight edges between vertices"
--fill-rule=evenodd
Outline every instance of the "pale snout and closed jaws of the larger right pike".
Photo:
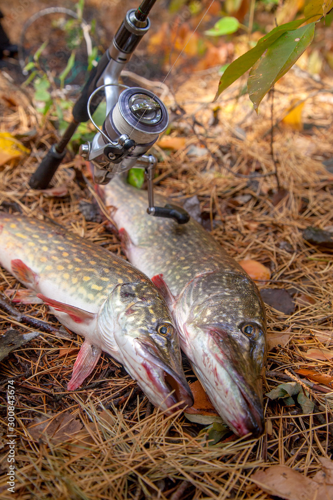
M 191 361 L 212 404 L 237 435 L 261 435 L 265 421 L 260 362 L 245 356 L 222 328 L 200 329 L 204 335 L 192 345 Z

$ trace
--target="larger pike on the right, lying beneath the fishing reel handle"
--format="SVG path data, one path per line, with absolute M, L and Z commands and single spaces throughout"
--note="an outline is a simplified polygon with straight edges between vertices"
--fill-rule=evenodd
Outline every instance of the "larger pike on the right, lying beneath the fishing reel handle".
M 98 189 L 129 261 L 166 298 L 181 348 L 218 413 L 238 435 L 262 433 L 266 315 L 255 283 L 193 218 L 179 225 L 148 215 L 146 192 L 119 176 Z

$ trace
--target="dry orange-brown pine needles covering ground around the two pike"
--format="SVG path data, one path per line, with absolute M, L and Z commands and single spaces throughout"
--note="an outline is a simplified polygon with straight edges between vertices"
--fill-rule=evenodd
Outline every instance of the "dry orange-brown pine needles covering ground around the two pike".
M 209 78 L 207 73 L 203 81 L 211 89 Z M 159 150 L 165 161 L 159 165 L 156 186 L 157 191 L 174 199 L 197 194 L 206 226 L 228 252 L 236 259 L 253 258 L 271 268 L 272 278 L 263 286 L 312 297 L 314 303 L 297 303 L 292 315 L 268 307 L 268 333 L 281 335 L 281 343 L 269 352 L 265 392 L 283 381 L 299 380 L 295 370 L 302 366 L 333 374 L 332 360 L 314 361 L 306 356 L 312 347 L 333 348 L 332 253 L 305 242 L 301 233 L 308 225 L 333 225 L 333 174 L 322 164 L 333 154 L 332 95 L 330 91 L 318 92 L 320 84 L 310 78 L 302 80 L 295 73 L 288 78 L 292 78 L 288 87 L 287 80 L 282 80 L 275 92 L 276 164 L 271 155 L 268 99 L 262 103 L 257 118 L 247 97 L 235 99 L 237 89 L 232 89 L 223 97 L 220 122 L 209 126 L 213 105 L 200 103 L 201 97 L 201 102 L 207 102 L 208 91 L 193 92 L 198 81 L 194 78 L 182 86 L 177 100 L 186 108 L 187 116 L 174 122 L 175 134 L 183 133 L 187 144 L 204 145 L 210 152 L 190 158 L 186 148 L 170 155 Z M 1 94 L 8 83 L 2 79 L 0 87 Z M 323 128 L 313 127 L 309 134 L 281 124 L 280 118 L 291 102 L 288 88 L 297 88 L 299 98 L 312 92 L 304 116 Z M 52 142 L 54 131 L 47 120 L 36 114 L 29 96 L 19 89 L 11 96 L 21 106 L 3 106 L 1 130 L 20 133 L 35 127 L 36 136 L 24 140 L 31 149 L 28 158 L 0 167 L 0 204 L 30 216 L 50 217 L 120 253 L 119 242 L 105 231 L 105 224 L 86 222 L 80 213 L 78 201 L 92 200 L 82 184 L 70 181 L 68 195 L 63 198 L 46 198 L 28 188 L 27 180 L 39 161 L 41 144 Z M 204 126 L 196 124 L 194 117 Z M 241 139 L 244 133 L 246 137 Z M 66 169 L 71 166 L 77 171 L 84 168 L 77 158 L 68 156 L 56 174 L 58 184 L 66 180 Z M 278 202 L 273 198 L 277 189 L 277 177 L 272 175 L 275 168 L 280 188 L 286 190 L 286 196 Z M 244 195 L 250 195 L 248 201 L 239 198 Z M 0 290 L 19 286 L 7 272 L 0 271 Z M 44 306 L 18 308 L 58 326 Z M 0 330 L 9 327 L 24 332 L 35 330 L 0 312 Z M 165 417 L 152 409 L 135 382 L 106 355 L 82 388 L 68 392 L 65 387 L 77 353 L 72 348 L 77 349 L 81 343 L 81 337 L 66 331 L 60 336 L 41 331 L 40 337 L 1 363 L 2 386 L 5 389 L 5 381 L 14 379 L 17 398 L 15 493 L 6 490 L 7 479 L 3 476 L 1 498 L 266 500 L 272 496 L 251 481 L 255 469 L 286 464 L 312 476 L 320 469 L 318 457 L 330 457 L 333 452 L 333 392 L 328 386 L 317 384 L 309 390 L 306 385 L 315 402 L 312 415 L 303 415 L 297 405 L 287 407 L 279 400 L 266 398 L 267 426 L 262 437 L 237 439 L 229 434 L 224 441 L 208 446 L 198 437 L 200 426 L 187 422 L 182 415 Z M 71 350 L 59 356 L 63 348 Z M 188 376 L 193 377 L 185 367 Z M 2 425 L 6 422 L 4 394 Z M 60 440 L 47 429 L 46 435 L 36 437 L 33 428 L 41 420 L 51 425 L 61 415 L 65 420 L 61 420 L 64 434 Z M 33 420 L 36 417 L 39 419 Z M 68 419 L 79 423 L 80 430 L 66 439 Z M 8 454 L 5 443 L 3 435 L 0 465 L 4 473 Z

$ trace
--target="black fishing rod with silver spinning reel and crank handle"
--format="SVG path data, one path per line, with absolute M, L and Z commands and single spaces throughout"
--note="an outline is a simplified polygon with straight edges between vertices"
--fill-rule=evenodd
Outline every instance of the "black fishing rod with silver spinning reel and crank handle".
M 143 0 L 137 9 L 127 11 L 111 45 L 90 71 L 74 104 L 71 122 L 59 142 L 48 150 L 32 174 L 29 185 L 33 189 L 47 188 L 77 126 L 90 119 L 97 133 L 91 142 L 80 145 L 79 154 L 94 165 L 94 181 L 106 184 L 114 175 L 133 166 L 143 168 L 148 186 L 147 212 L 184 224 L 190 218 L 186 210 L 170 204 L 154 205 L 153 179 L 157 158 L 147 153 L 168 126 L 168 110 L 150 90 L 119 83 L 122 69 L 150 27 L 148 14 L 155 2 Z M 119 95 L 120 88 L 123 90 Z M 106 117 L 102 129 L 99 129 L 92 115 L 104 97 Z

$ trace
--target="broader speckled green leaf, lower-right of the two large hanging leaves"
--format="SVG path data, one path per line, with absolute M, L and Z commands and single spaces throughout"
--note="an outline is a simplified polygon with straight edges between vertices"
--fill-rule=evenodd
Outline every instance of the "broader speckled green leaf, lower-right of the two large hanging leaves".
M 314 22 L 292 31 L 286 31 L 253 65 L 248 78 L 248 92 L 256 111 L 274 83 L 295 64 L 310 45 L 314 32 Z

